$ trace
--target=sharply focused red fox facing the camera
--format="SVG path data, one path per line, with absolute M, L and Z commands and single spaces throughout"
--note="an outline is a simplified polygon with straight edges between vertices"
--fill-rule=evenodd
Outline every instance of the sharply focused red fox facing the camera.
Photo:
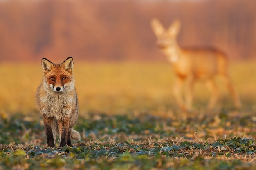
M 62 64 L 42 59 L 43 80 L 36 91 L 36 105 L 43 115 L 47 145 L 55 147 L 56 133 L 60 147 L 72 146 L 71 139 L 81 140 L 73 129 L 78 118 L 78 99 L 72 73 L 74 62 L 68 57 Z

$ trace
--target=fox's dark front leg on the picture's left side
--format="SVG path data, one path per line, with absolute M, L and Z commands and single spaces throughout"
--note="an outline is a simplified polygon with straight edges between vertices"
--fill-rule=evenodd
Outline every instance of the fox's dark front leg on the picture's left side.
M 45 133 L 46 133 L 46 139 L 47 139 L 47 145 L 49 147 L 54 147 L 54 136 L 52 133 L 52 117 L 47 117 L 45 114 L 43 114 L 43 121 L 45 124 Z

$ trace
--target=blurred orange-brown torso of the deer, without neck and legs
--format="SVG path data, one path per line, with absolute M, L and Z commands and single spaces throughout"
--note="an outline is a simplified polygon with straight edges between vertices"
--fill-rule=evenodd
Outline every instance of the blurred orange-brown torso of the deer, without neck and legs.
M 193 75 L 195 79 L 210 78 L 223 73 L 227 65 L 225 55 L 209 49 L 182 49 L 173 57 L 172 54 L 168 57 L 176 75 L 180 78 L 186 78 L 189 75 Z

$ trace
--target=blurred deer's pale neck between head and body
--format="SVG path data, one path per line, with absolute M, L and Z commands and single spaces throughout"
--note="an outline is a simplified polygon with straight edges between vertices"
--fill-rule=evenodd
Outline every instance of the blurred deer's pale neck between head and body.
M 168 46 L 162 49 L 164 54 L 167 56 L 167 59 L 171 63 L 177 62 L 180 58 L 180 48 L 178 46 Z

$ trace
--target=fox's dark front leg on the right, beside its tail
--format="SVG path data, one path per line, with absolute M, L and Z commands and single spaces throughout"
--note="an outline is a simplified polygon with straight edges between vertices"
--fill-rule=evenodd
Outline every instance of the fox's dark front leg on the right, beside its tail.
M 59 128 L 60 139 L 61 139 L 60 147 L 63 147 L 67 144 L 68 130 L 69 130 L 69 119 L 59 120 L 58 128 Z M 70 143 L 71 143 L 71 141 L 70 141 Z

